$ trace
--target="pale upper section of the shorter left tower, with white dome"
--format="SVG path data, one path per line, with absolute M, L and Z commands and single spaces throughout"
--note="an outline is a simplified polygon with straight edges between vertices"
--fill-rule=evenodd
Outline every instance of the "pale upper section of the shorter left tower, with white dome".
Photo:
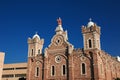
M 28 57 L 35 57 L 37 54 L 42 54 L 44 39 L 40 39 L 36 33 L 33 38 L 28 38 Z

